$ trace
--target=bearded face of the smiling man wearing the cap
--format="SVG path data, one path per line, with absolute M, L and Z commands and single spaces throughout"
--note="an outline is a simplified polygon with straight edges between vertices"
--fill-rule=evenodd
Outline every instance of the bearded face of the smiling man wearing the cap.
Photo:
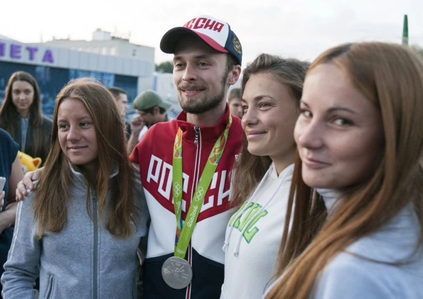
M 188 113 L 200 114 L 225 101 L 231 78 L 227 73 L 227 54 L 209 47 L 203 40 L 185 37 L 173 58 L 173 82 L 179 104 Z M 230 72 L 229 72 L 230 73 Z

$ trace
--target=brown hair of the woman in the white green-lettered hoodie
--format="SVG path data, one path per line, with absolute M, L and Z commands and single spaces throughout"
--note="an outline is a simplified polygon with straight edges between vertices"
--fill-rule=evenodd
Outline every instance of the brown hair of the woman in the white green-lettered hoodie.
M 294 58 L 281 58 L 266 53 L 262 53 L 253 62 L 247 65 L 242 74 L 242 91 L 251 75 L 263 73 L 272 75 L 281 84 L 289 88 L 292 97 L 300 106 L 300 98 L 303 94 L 303 82 L 308 62 L 296 60 Z M 294 132 L 292 132 L 294 134 Z M 240 151 L 240 160 L 235 165 L 233 186 L 232 186 L 232 205 L 240 206 L 253 193 L 260 180 L 272 164 L 269 156 L 255 156 L 248 152 L 248 141 L 245 134 L 242 134 L 242 148 Z

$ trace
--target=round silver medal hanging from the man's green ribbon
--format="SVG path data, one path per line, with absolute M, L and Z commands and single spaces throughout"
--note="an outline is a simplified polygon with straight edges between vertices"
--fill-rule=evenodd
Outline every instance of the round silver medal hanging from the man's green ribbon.
M 183 289 L 192 280 L 192 269 L 190 263 L 177 256 L 167 259 L 162 266 L 164 282 L 173 289 Z

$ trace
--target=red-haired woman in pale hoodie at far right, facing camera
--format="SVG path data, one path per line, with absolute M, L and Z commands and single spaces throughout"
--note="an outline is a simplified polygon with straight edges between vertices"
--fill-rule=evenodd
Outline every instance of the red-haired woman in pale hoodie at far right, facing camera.
M 307 72 L 277 280 L 266 299 L 423 296 L 423 61 L 339 45 Z

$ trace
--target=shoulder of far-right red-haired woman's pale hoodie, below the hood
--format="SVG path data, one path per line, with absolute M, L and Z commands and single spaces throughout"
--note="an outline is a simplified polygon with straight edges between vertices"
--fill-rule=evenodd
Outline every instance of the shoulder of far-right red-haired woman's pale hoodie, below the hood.
M 392 265 L 341 252 L 324 268 L 311 298 L 420 298 L 423 259 Z

